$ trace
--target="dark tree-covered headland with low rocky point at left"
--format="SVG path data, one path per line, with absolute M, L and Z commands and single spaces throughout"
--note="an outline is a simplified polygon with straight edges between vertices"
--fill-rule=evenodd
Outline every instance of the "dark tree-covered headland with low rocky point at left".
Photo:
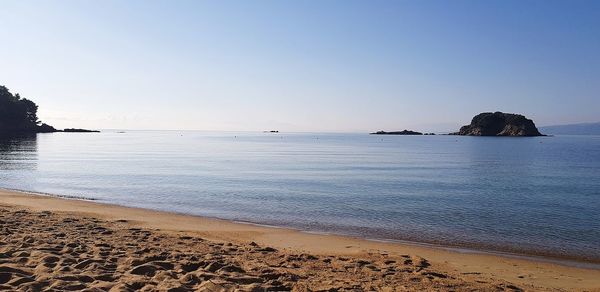
M 57 130 L 44 124 L 37 117 L 35 102 L 12 94 L 5 86 L 0 86 L 0 136 L 27 135 L 54 132 L 99 132 L 85 129 Z

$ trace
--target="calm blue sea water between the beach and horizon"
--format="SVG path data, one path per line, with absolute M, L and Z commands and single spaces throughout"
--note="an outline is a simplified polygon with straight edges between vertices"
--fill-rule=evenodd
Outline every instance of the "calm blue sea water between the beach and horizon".
M 2 188 L 600 262 L 600 136 L 107 131 L 0 141 Z

